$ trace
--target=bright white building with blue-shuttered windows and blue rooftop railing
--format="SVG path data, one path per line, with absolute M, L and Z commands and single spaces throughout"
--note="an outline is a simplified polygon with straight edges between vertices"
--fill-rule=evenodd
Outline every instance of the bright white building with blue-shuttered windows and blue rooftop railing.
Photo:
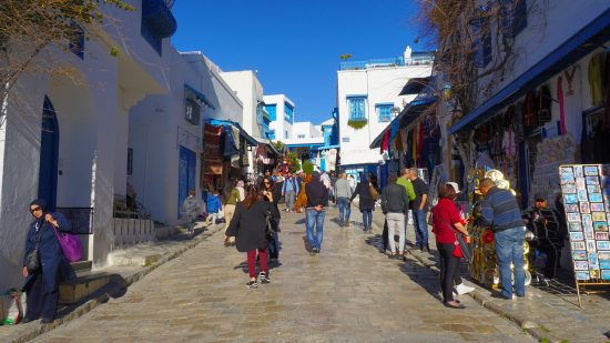
M 337 108 L 340 165 L 350 174 L 378 173 L 383 163 L 373 140 L 415 95 L 399 95 L 409 79 L 431 73 L 434 53 L 413 52 L 403 57 L 342 62 L 337 71 Z

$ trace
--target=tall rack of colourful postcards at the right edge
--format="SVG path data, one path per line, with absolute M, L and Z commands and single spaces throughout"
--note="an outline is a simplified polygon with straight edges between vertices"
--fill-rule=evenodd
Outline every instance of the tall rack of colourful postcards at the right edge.
M 608 181 L 606 170 L 608 165 L 601 164 L 559 167 L 579 306 L 581 290 L 610 284 L 610 190 L 603 188 Z

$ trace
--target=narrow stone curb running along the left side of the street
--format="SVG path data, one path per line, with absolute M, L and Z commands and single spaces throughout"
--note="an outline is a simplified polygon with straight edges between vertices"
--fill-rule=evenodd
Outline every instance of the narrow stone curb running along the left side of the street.
M 114 286 L 109 287 L 104 291 L 103 294 L 95 296 L 94 299 L 91 299 L 83 303 L 82 305 L 77 306 L 70 313 L 62 316 L 61 319 L 57 319 L 51 324 L 44 324 L 44 325 L 38 325 L 32 327 L 31 330 L 23 332 L 19 337 L 12 339 L 11 343 L 23 343 L 32 341 L 33 339 L 42 335 L 43 333 L 47 333 L 55 327 L 59 327 L 60 325 L 63 325 L 65 323 L 69 323 L 80 316 L 83 316 L 84 314 L 91 312 L 93 309 L 98 307 L 99 305 L 102 305 L 106 303 L 112 294 L 119 293 L 121 290 L 129 287 L 133 283 L 144 279 L 148 274 L 150 274 L 155 269 L 160 268 L 161 265 L 179 258 L 183 253 L 185 253 L 187 250 L 191 250 L 202 243 L 203 241 L 206 241 L 211 235 L 215 234 L 216 232 L 221 231 L 224 228 L 222 224 L 215 225 L 215 228 L 212 228 L 211 230 L 203 232 L 202 234 L 197 235 L 195 240 L 189 242 L 184 246 L 177 249 L 176 251 L 161 258 L 157 262 L 154 264 L 151 264 L 149 266 L 142 268 L 142 270 L 126 276 L 124 279 L 124 282 L 116 284 Z

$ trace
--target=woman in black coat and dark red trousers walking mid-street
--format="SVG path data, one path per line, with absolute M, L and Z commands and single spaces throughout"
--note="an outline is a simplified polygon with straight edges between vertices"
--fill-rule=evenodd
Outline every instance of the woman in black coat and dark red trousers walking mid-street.
M 266 194 L 270 196 L 268 194 Z M 273 196 L 273 195 L 271 195 Z M 251 184 L 246 188 L 246 198 L 237 203 L 235 214 L 228 224 L 227 235 L 236 238 L 237 251 L 247 253 L 247 270 L 250 272 L 248 289 L 256 289 L 256 251 L 261 263 L 258 279 L 261 283 L 270 283 L 270 273 L 267 269 L 267 228 L 266 218 L 279 219 L 277 208 L 273 202 L 263 200 L 263 194 L 258 188 Z

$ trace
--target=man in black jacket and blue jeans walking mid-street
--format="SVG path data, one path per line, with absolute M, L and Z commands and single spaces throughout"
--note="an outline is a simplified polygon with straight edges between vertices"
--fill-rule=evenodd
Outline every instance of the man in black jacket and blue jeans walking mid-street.
M 319 180 L 318 172 L 314 172 L 312 181 L 305 185 L 305 194 L 307 195 L 305 226 L 307 229 L 307 240 L 312 246 L 309 254 L 315 255 L 322 249 L 324 209 L 328 205 L 328 189 Z

